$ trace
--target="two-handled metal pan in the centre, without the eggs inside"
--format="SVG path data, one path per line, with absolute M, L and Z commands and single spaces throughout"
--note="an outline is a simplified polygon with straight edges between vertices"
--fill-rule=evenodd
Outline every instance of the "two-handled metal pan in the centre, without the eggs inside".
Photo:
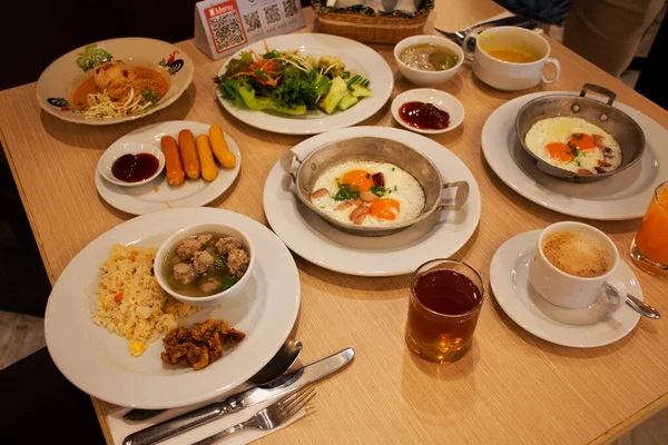
M 386 227 L 363 227 L 355 226 L 352 222 L 343 224 L 323 214 L 320 208 L 311 202 L 311 195 L 314 191 L 315 182 L 330 168 L 352 160 L 390 162 L 411 174 L 420 182 L 424 191 L 425 205 L 422 214 L 413 220 Z M 295 161 L 298 164 L 296 170 Z M 328 142 L 313 150 L 303 160 L 294 151 L 289 150 L 283 154 L 281 166 L 293 177 L 295 191 L 302 204 L 315 211 L 332 226 L 352 235 L 377 237 L 395 234 L 429 218 L 435 211 L 459 210 L 469 198 L 469 182 L 456 181 L 443 184 L 439 170 L 428 158 L 409 146 L 391 139 L 360 137 Z M 454 204 L 443 204 L 443 189 L 450 187 L 456 187 Z

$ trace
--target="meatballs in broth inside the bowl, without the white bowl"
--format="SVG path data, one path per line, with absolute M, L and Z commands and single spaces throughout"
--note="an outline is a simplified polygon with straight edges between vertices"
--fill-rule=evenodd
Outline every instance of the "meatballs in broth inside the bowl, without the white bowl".
M 220 234 L 200 234 L 175 246 L 165 264 L 169 286 L 189 297 L 206 297 L 235 285 L 250 257 L 242 240 Z

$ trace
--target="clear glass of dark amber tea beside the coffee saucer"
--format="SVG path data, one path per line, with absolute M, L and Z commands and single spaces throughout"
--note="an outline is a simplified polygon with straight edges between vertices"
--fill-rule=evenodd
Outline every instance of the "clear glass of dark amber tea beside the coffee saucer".
M 484 298 L 480 275 L 455 259 L 433 259 L 411 279 L 406 343 L 431 362 L 461 358 L 473 340 Z

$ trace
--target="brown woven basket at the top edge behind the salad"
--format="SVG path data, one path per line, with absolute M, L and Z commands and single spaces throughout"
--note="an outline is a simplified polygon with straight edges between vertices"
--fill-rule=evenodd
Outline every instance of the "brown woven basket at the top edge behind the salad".
M 425 1 L 423 9 L 412 17 L 370 16 L 362 11 L 338 12 L 313 0 L 317 14 L 318 30 L 330 34 L 346 37 L 364 43 L 397 43 L 406 37 L 422 33 L 433 1 Z

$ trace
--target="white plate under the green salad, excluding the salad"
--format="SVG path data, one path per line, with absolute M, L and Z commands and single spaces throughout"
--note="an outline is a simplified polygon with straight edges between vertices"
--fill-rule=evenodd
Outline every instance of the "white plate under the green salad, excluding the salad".
M 304 116 L 282 116 L 239 108 L 227 100 L 223 100 L 220 95 L 216 95 L 223 107 L 242 122 L 262 130 L 285 135 L 315 135 L 354 126 L 373 116 L 390 99 L 394 76 L 385 59 L 365 44 L 330 34 L 296 33 L 257 41 L 244 47 L 227 59 L 220 67 L 218 76 L 225 72 L 229 60 L 239 57 L 243 51 L 254 50 L 261 55 L 264 53 L 265 42 L 271 50 L 298 50 L 301 55 L 313 56 L 316 59 L 321 56 L 341 57 L 346 70 L 362 75 L 371 81 L 369 88 L 373 91 L 373 97 L 362 99 L 351 109 L 336 111 L 333 115 L 327 115 L 321 110 L 312 110 Z

